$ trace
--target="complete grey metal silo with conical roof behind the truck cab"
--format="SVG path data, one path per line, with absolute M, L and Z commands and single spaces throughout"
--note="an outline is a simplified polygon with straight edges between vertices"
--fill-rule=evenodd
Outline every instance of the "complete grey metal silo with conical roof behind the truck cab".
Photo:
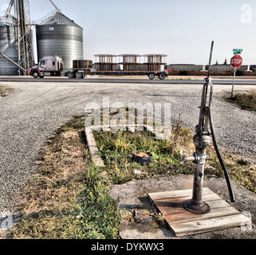
M 36 26 L 38 61 L 46 56 L 59 56 L 65 71 L 72 69 L 73 60 L 84 57 L 83 29 L 60 11 Z

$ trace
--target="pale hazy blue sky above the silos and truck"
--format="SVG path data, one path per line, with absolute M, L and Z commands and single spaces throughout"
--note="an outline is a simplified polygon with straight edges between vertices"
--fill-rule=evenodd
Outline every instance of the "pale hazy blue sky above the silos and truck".
M 0 6 L 10 0 L 0 0 Z M 165 53 L 168 64 L 230 62 L 243 49 L 243 64 L 256 65 L 255 0 L 53 0 L 84 29 L 84 57 L 96 53 Z M 54 10 L 48 0 L 30 0 L 31 20 Z M 3 14 L 3 11 L 2 13 Z

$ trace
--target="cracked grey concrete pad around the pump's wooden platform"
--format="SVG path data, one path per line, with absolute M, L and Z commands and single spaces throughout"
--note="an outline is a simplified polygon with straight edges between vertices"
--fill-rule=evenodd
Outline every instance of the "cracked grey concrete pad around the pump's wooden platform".
M 167 228 L 163 218 L 156 214 L 148 194 L 168 190 L 192 189 L 193 178 L 193 175 L 159 177 L 132 180 L 122 185 L 112 186 L 110 194 L 112 198 L 117 199 L 120 213 L 123 215 L 123 221 L 120 223 L 120 237 L 123 239 L 178 239 Z M 204 186 L 230 203 L 225 179 L 205 179 Z M 232 186 L 236 202 L 230 203 L 230 205 L 250 217 L 253 224 L 179 237 L 179 239 L 255 239 L 256 195 L 236 182 L 232 181 Z

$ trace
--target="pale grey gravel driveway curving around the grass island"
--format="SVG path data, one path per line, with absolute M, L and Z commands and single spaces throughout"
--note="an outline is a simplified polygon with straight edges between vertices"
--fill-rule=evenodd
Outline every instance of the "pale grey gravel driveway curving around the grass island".
M 173 120 L 179 113 L 191 130 L 199 120 L 202 85 L 186 84 L 81 84 L 2 83 L 14 88 L 0 97 L 0 213 L 13 213 L 22 188 L 35 169 L 34 161 L 45 141 L 72 116 L 84 113 L 89 102 L 170 102 Z M 237 89 L 251 89 L 241 86 Z M 255 89 L 255 87 L 254 87 Z M 230 152 L 256 161 L 256 115 L 221 99 L 230 86 L 215 86 L 212 109 L 219 144 Z

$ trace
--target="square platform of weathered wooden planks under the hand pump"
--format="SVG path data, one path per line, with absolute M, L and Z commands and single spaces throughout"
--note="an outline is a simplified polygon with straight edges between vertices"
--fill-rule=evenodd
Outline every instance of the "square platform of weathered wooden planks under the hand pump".
M 203 189 L 203 202 L 207 202 L 211 212 L 191 214 L 183 209 L 183 202 L 191 199 L 192 191 L 175 190 L 148 194 L 176 237 L 251 224 L 250 218 L 239 213 L 208 188 Z

